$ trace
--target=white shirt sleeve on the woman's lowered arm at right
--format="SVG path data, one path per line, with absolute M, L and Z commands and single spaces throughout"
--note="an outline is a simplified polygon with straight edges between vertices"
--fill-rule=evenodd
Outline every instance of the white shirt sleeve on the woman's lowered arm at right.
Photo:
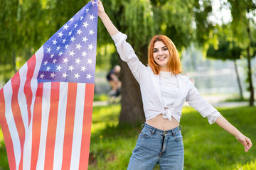
M 188 104 L 195 108 L 203 118 L 207 117 L 210 124 L 215 123 L 217 118 L 220 117 L 220 113 L 199 94 L 198 89 L 190 80 L 188 80 L 188 84 L 190 86 L 186 96 Z

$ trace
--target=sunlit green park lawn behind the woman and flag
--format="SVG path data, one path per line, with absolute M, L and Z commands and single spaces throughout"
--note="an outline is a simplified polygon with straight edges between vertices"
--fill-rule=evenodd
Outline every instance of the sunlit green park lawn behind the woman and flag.
M 119 105 L 95 106 L 92 113 L 89 170 L 127 169 L 140 125 L 118 125 Z M 256 141 L 256 108 L 218 108 L 241 132 Z M 181 118 L 185 148 L 184 169 L 256 169 L 256 148 L 245 153 L 242 145 L 218 125 L 193 108 L 183 108 Z M 156 166 L 155 169 L 158 169 Z M 0 170 L 8 169 L 4 140 L 0 133 Z

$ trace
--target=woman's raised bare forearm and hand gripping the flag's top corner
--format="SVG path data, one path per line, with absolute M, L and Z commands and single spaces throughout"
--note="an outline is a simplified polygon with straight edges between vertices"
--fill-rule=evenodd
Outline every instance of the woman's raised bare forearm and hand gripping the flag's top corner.
M 116 35 L 119 32 L 119 30 L 117 30 L 110 18 L 107 16 L 107 13 L 105 13 L 104 6 L 100 0 L 98 1 L 98 16 L 111 36 Z

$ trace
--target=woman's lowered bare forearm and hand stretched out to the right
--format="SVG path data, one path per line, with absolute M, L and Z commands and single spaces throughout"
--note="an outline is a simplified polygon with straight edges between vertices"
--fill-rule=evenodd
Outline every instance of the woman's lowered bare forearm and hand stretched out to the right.
M 222 115 L 215 121 L 221 128 L 230 132 L 235 138 L 245 147 L 245 152 L 247 152 L 252 147 L 252 142 L 248 137 L 243 135 L 237 128 L 231 125 L 228 120 L 226 120 Z

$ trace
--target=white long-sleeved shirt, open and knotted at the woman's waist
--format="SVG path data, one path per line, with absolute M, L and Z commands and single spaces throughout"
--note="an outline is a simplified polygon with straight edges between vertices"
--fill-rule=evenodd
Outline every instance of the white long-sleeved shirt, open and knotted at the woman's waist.
M 165 109 L 159 86 L 159 75 L 154 74 L 150 67 L 144 66 L 139 61 L 132 46 L 126 42 L 127 35 L 119 32 L 113 35 L 112 39 L 121 59 L 127 62 L 129 69 L 131 69 L 135 79 L 139 82 L 146 120 L 151 120 L 162 114 L 165 119 L 171 120 L 171 116 L 173 116 L 180 122 L 183 103 L 188 101 L 204 118 L 208 118 L 210 124 L 215 123 L 220 113 L 199 94 L 189 78 L 181 74 L 176 74 L 179 87 L 178 98 L 171 106 Z

